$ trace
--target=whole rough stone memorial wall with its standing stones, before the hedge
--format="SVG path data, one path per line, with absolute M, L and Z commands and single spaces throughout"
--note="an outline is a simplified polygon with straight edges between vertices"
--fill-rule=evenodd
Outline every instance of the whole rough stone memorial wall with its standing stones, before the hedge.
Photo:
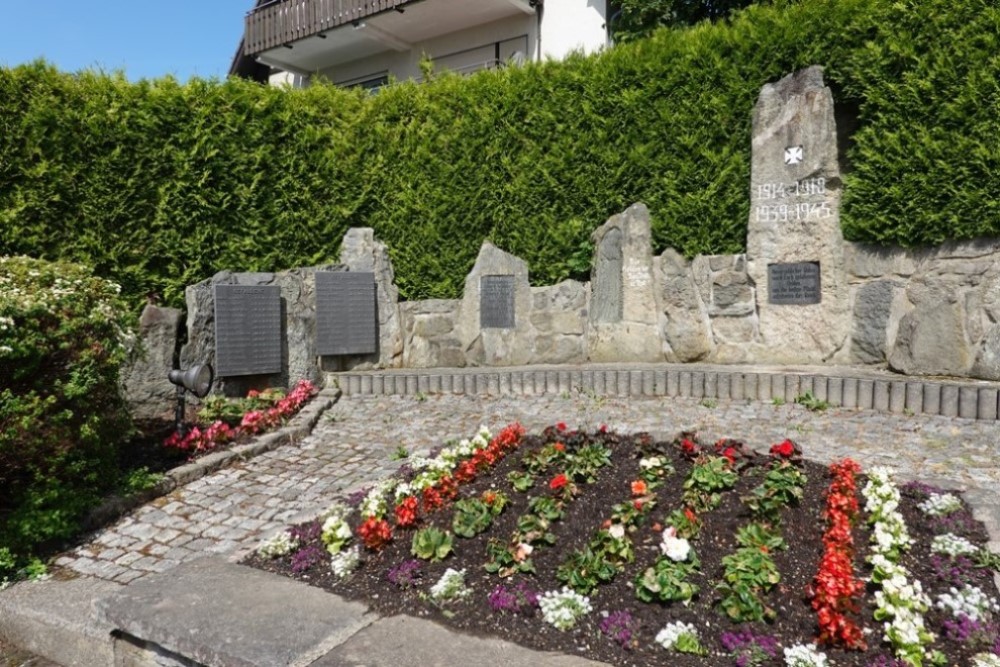
M 750 190 L 746 254 L 654 256 L 649 211 L 635 204 L 595 230 L 590 281 L 532 287 L 524 260 L 485 242 L 454 300 L 400 303 L 387 248 L 371 229 L 352 229 L 341 264 L 222 272 L 188 288 L 179 364 L 214 360 L 212 287 L 231 284 L 280 288 L 283 342 L 280 373 L 222 378 L 216 390 L 227 394 L 326 370 L 588 362 L 867 365 L 1000 380 L 1000 240 L 915 251 L 845 242 L 833 98 L 819 68 L 761 91 Z M 317 356 L 317 270 L 374 276 L 374 353 Z M 174 363 L 177 317 L 144 314 L 146 361 L 126 377 L 150 412 L 172 405 L 161 367 Z

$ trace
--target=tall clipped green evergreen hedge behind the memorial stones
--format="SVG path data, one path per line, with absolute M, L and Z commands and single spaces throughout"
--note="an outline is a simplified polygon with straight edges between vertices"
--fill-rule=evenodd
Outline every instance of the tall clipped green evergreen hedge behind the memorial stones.
M 536 283 L 581 276 L 592 230 L 635 201 L 656 251 L 739 252 L 757 94 L 811 64 L 859 113 L 848 238 L 1000 234 L 998 4 L 777 2 L 374 96 L 0 70 L 0 255 L 82 262 L 133 303 L 177 305 L 218 270 L 328 260 L 371 226 L 405 297 L 456 297 L 485 238 Z

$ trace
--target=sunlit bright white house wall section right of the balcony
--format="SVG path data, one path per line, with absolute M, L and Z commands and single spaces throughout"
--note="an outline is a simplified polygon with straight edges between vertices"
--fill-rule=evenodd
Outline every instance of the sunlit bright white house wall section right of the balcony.
M 543 59 L 561 60 L 572 51 L 593 53 L 607 45 L 607 0 L 545 0 L 543 11 Z

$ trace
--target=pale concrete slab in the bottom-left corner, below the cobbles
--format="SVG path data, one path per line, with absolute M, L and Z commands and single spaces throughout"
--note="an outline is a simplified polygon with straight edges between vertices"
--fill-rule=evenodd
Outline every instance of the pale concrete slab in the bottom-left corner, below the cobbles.
M 114 628 L 94 601 L 121 588 L 91 577 L 21 582 L 0 592 L 0 639 L 65 667 L 113 665 Z

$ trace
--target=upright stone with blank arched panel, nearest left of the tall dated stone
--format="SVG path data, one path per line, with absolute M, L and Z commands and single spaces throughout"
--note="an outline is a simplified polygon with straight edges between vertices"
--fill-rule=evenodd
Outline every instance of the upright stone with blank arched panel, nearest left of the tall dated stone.
M 663 361 L 649 211 L 634 204 L 593 235 L 591 361 Z

